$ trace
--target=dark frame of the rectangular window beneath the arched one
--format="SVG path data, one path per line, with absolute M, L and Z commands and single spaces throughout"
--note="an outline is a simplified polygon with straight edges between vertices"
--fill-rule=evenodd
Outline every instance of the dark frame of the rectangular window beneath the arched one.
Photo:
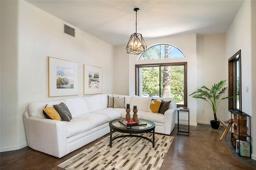
M 187 85 L 187 62 L 175 62 L 175 63 L 148 63 L 148 64 L 136 64 L 135 65 L 135 95 L 139 95 L 139 69 L 141 67 L 164 67 L 164 66 L 184 66 L 184 104 L 177 104 L 177 107 L 187 107 L 188 106 L 188 85 Z M 161 70 L 160 70 L 161 71 Z M 161 74 L 160 74 L 161 75 Z M 160 86 L 161 76 L 159 78 Z M 161 94 L 161 88 L 159 89 L 159 94 Z

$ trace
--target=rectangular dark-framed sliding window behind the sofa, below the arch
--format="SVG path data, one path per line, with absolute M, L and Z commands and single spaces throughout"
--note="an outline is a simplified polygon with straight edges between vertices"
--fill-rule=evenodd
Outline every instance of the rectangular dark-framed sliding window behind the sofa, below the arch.
M 176 99 L 186 107 L 186 63 L 136 65 L 137 90 L 142 97 L 166 97 Z

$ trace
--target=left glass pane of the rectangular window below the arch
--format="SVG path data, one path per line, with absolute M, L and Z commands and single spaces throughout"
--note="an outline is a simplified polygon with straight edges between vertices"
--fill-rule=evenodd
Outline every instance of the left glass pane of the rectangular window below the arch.
M 142 68 L 142 96 L 159 97 L 159 67 Z

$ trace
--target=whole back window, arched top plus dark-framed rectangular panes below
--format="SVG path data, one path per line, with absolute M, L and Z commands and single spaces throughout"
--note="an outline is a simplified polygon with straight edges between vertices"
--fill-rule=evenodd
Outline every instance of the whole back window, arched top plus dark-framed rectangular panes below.
M 177 47 L 154 45 L 139 60 L 169 59 L 166 63 L 135 65 L 136 95 L 143 97 L 172 97 L 180 107 L 187 107 L 187 62 L 172 62 L 171 58 L 185 57 Z

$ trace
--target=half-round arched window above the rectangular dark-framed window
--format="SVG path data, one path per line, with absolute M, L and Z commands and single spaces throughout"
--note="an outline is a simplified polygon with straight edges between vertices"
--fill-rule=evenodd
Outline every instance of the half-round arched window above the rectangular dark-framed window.
M 182 58 L 185 55 L 173 45 L 158 44 L 148 48 L 139 60 L 164 59 L 164 58 Z

